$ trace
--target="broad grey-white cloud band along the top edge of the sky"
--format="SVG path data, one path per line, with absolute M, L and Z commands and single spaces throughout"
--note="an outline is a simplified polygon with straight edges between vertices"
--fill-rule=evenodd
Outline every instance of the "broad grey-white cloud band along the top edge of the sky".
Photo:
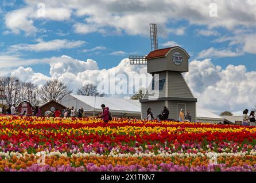
M 37 17 L 37 4 L 41 2 L 45 6 L 45 17 Z M 49 1 L 26 0 L 26 6 L 13 10 L 6 15 L 6 27 L 14 33 L 20 30 L 26 34 L 37 31 L 34 21 L 70 20 L 84 18 L 80 23 L 74 24 L 76 33 L 100 32 L 103 34 L 114 31 L 115 33 L 127 33 L 130 35 L 148 35 L 149 23 L 157 23 L 158 35 L 168 33 L 183 35 L 185 27 L 166 27 L 169 23 L 188 21 L 192 25 L 204 25 L 208 29 L 213 27 L 226 27 L 232 30 L 235 27 L 255 27 L 256 6 L 254 1 L 214 1 L 218 5 L 218 16 L 210 16 L 212 0 L 184 1 L 159 0 L 159 1 Z M 253 3 L 252 3 L 253 2 Z M 207 33 L 208 34 L 208 33 Z

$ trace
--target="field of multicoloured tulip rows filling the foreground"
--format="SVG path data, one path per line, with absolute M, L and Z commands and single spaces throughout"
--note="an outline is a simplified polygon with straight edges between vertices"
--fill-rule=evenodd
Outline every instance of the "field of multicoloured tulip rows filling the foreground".
M 0 116 L 0 171 L 255 171 L 256 128 Z

